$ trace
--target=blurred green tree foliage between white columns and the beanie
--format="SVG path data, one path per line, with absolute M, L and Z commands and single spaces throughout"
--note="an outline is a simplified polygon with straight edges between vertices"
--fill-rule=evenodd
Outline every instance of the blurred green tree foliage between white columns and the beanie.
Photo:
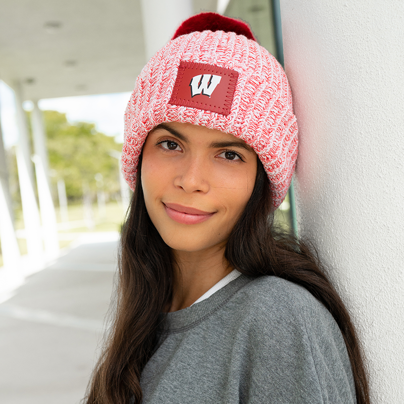
M 56 179 L 63 178 L 69 199 L 83 195 L 83 185 L 95 192 L 95 177 L 102 174 L 103 189 L 109 194 L 119 191 L 118 161 L 111 150 L 122 149 L 113 137 L 99 133 L 95 125 L 85 122 L 70 124 L 65 114 L 44 111 L 49 167 Z M 100 185 L 98 178 L 98 186 Z

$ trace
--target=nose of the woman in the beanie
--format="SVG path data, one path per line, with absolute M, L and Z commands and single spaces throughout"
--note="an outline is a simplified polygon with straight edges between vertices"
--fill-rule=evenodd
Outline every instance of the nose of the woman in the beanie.
M 174 179 L 174 185 L 185 192 L 208 192 L 209 172 L 207 164 L 200 158 L 189 158 L 181 164 L 179 174 Z

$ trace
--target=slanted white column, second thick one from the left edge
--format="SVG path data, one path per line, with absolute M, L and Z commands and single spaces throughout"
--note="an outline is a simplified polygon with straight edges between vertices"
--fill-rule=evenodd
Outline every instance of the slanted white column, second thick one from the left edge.
M 38 205 L 36 203 L 33 182 L 33 170 L 29 147 L 28 128 L 25 112 L 22 108 L 20 88 L 14 88 L 16 97 L 17 122 L 19 140 L 16 148 L 18 180 L 20 183 L 22 212 L 24 218 L 25 237 L 30 263 L 40 266 L 43 262 L 42 232 Z

